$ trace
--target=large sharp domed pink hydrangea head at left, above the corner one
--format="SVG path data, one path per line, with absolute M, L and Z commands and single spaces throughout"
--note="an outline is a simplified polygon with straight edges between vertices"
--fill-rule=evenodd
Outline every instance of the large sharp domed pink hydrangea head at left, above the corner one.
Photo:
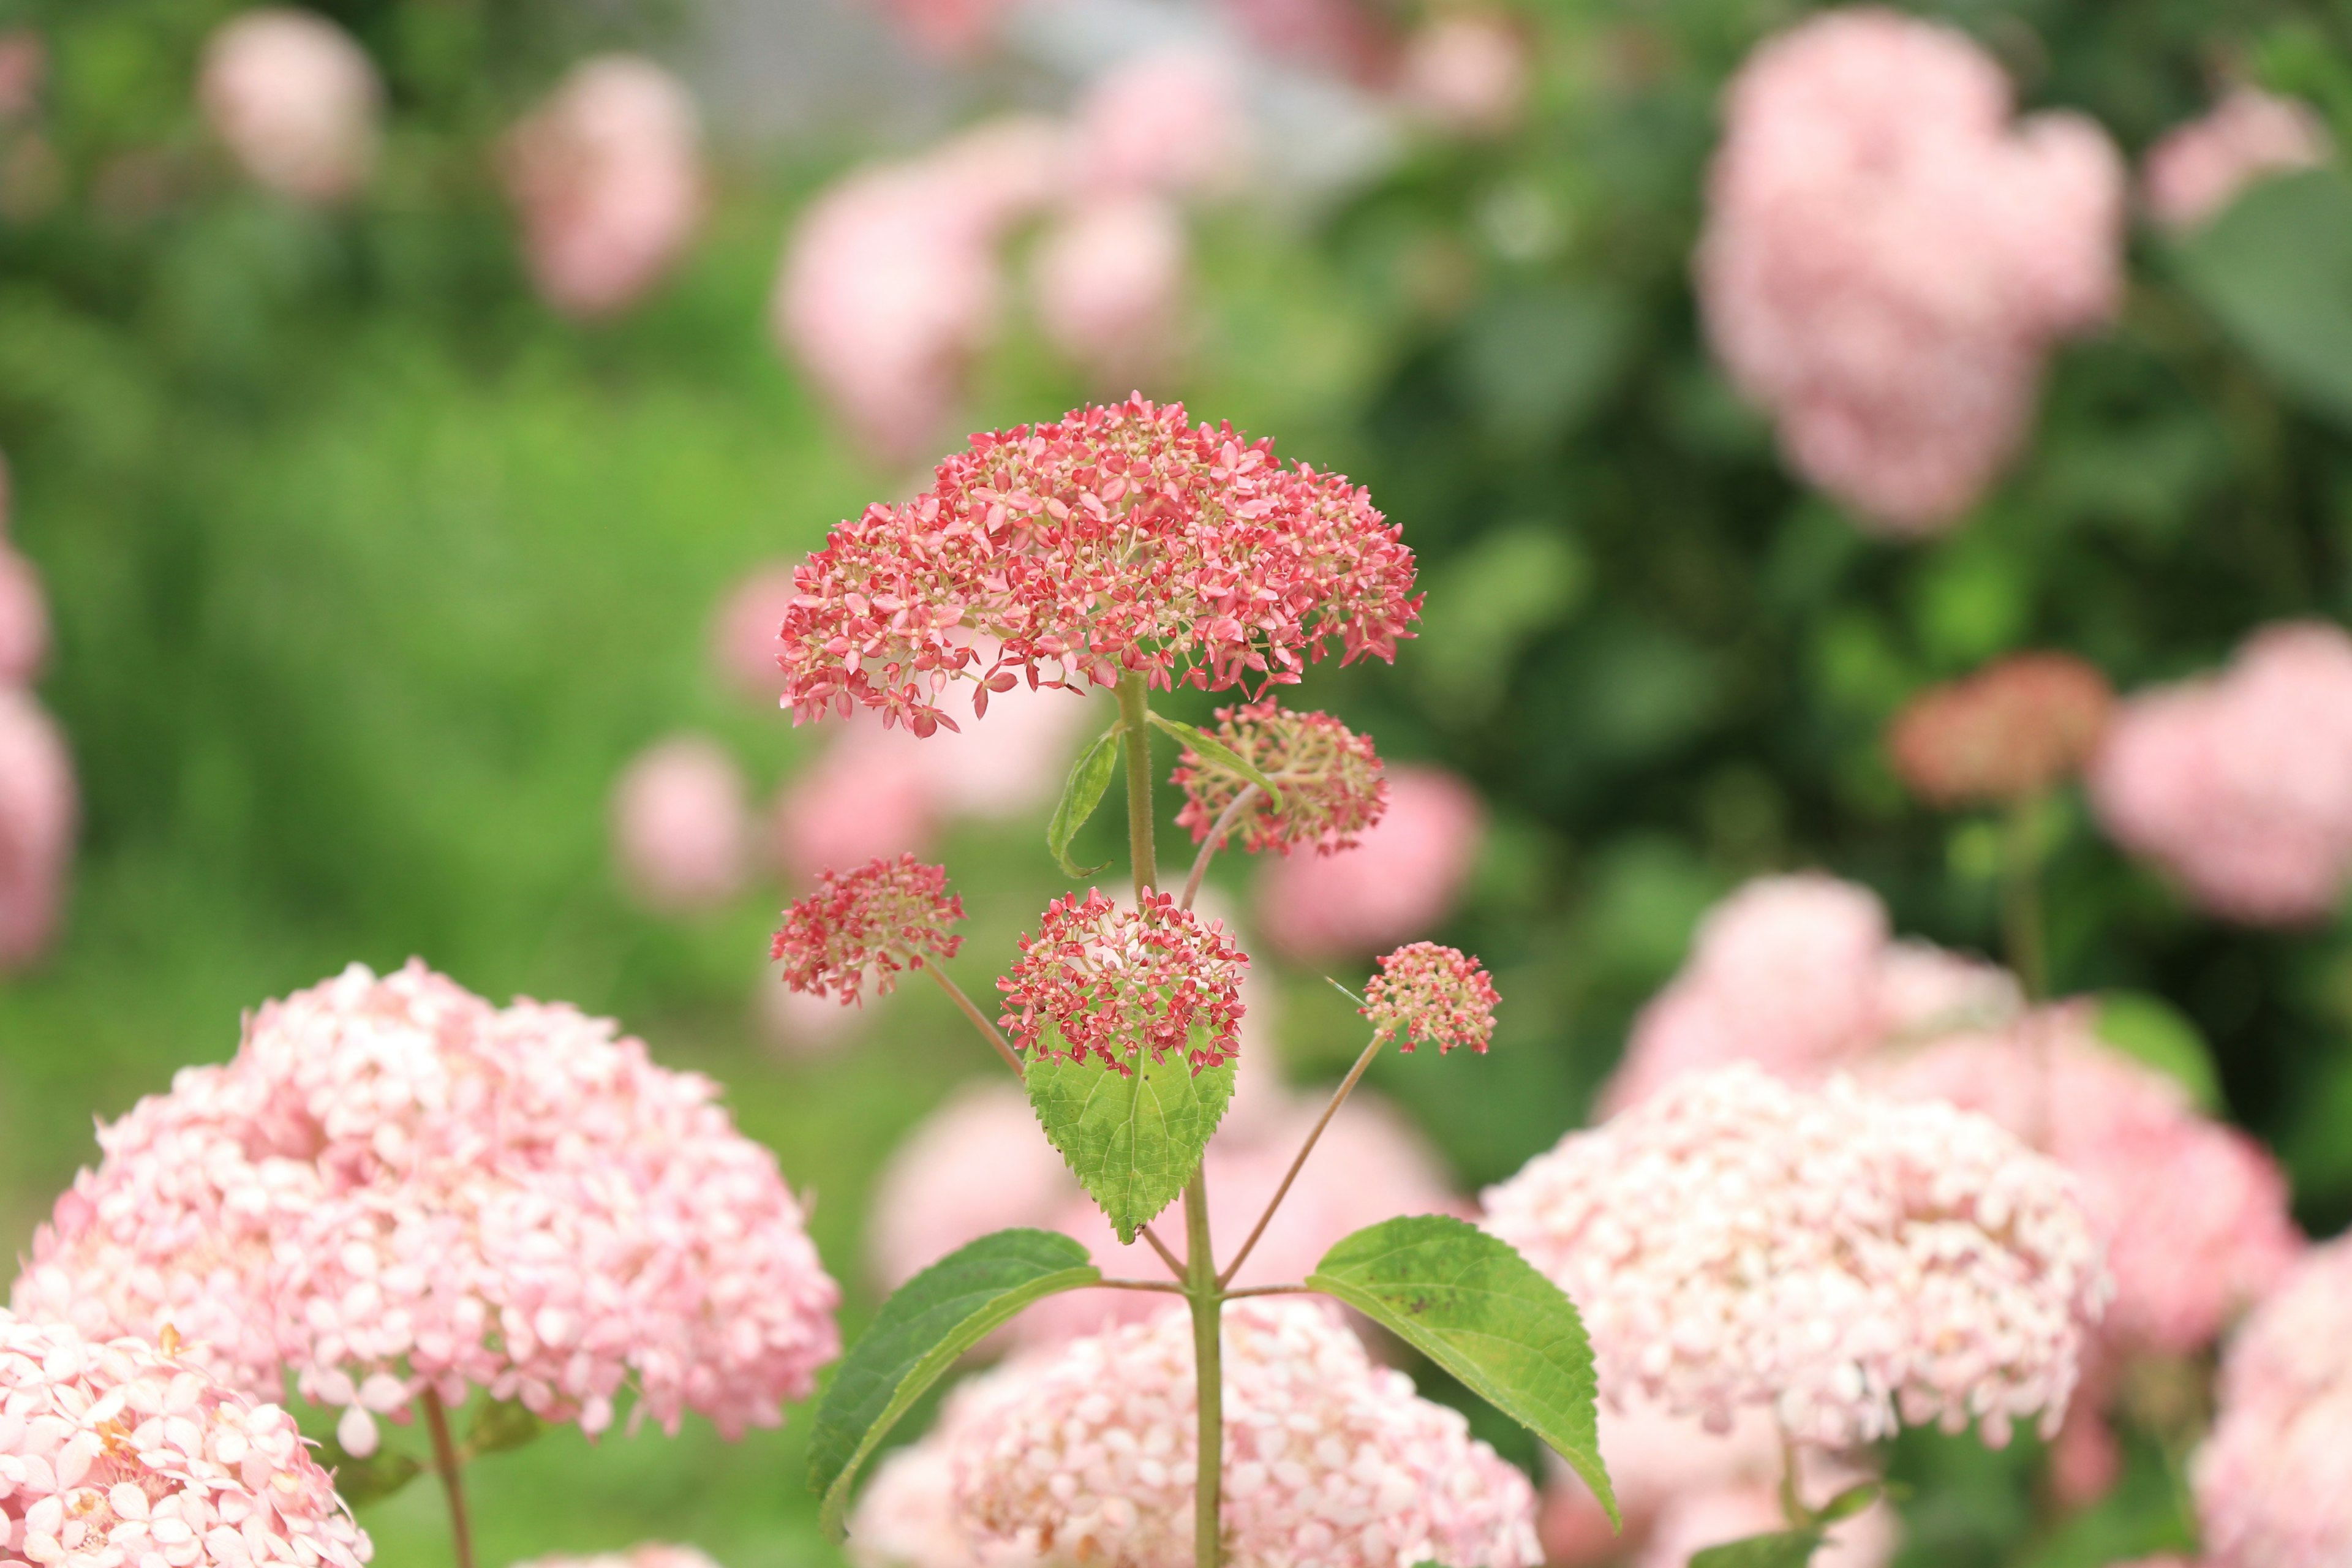
M 567 1006 L 494 1009 L 409 964 L 266 1004 L 223 1067 L 101 1128 L 33 1239 L 24 1314 L 176 1333 L 233 1387 L 346 1406 L 421 1389 L 590 1434 L 776 1425 L 840 1349 L 837 1288 L 774 1157 L 715 1086 Z

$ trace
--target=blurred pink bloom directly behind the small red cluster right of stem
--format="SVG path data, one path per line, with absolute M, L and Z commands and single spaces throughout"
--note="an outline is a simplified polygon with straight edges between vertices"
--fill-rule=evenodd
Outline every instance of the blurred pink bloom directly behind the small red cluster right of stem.
M 1289 856 L 1258 872 L 1258 929 L 1294 959 L 1381 952 L 1425 936 L 1470 879 L 1486 811 L 1437 766 L 1388 771 L 1388 813 L 1336 856 Z

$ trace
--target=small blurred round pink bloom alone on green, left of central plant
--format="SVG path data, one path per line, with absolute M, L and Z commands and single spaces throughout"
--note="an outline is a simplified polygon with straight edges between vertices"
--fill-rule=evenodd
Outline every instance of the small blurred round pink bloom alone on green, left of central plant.
M 621 879 L 654 910 L 727 903 L 750 870 L 743 769 L 703 736 L 640 752 L 612 792 L 612 849 Z

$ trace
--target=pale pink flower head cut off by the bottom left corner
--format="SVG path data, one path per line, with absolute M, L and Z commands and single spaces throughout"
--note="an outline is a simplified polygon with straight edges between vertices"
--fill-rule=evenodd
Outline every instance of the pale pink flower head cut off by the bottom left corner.
M 64 1568 L 360 1568 L 294 1418 L 143 1340 L 0 1312 L 0 1556 Z

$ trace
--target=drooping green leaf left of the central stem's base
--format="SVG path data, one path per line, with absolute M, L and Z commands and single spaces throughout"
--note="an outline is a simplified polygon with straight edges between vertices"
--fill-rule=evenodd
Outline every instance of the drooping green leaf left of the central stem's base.
M 1033 1300 L 1101 1276 L 1082 1241 L 1000 1229 L 948 1253 L 882 1302 L 833 1375 L 809 1436 L 809 1486 L 823 1497 L 818 1519 L 833 1540 L 847 1533 L 842 1514 L 858 1465 L 957 1356 Z

